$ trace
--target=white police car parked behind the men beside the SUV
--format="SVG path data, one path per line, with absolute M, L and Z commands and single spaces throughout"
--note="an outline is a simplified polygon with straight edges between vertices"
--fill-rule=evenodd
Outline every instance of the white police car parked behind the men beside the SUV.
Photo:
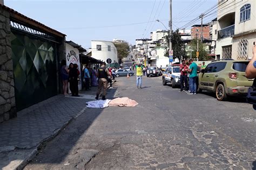
M 163 85 L 171 83 L 172 88 L 180 86 L 180 70 L 179 66 L 168 66 L 163 72 Z

